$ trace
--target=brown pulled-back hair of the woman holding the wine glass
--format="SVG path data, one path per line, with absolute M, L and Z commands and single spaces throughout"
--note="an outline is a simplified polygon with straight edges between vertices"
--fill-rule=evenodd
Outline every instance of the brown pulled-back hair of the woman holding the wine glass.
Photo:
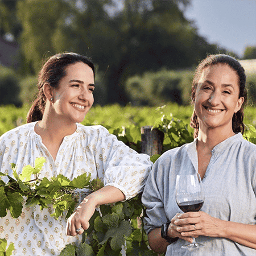
M 192 82 L 192 102 L 195 100 L 195 90 L 197 88 L 198 81 L 201 77 L 201 73 L 204 68 L 209 67 L 211 65 L 218 65 L 218 64 L 226 64 L 234 71 L 236 71 L 237 76 L 239 78 L 239 98 L 243 97 L 245 100 L 241 106 L 241 109 L 234 113 L 232 118 L 232 130 L 234 133 L 242 133 L 245 131 L 245 125 L 243 123 L 243 109 L 245 108 L 246 101 L 247 101 L 247 90 L 246 90 L 246 75 L 245 69 L 243 69 L 242 65 L 236 60 L 234 57 L 225 54 L 216 54 L 216 55 L 208 55 L 204 60 L 202 60 L 196 68 L 195 76 Z M 194 129 L 194 138 L 198 136 L 199 133 L 199 121 L 196 115 L 195 109 L 191 116 L 190 126 Z

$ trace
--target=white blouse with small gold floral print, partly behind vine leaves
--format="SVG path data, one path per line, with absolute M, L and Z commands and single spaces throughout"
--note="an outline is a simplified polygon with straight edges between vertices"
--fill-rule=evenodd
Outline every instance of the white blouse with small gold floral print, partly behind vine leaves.
M 73 179 L 84 172 L 92 179 L 100 177 L 105 185 L 119 188 L 130 199 L 141 192 L 152 163 L 146 154 L 138 154 L 102 126 L 83 126 L 64 138 L 54 161 L 41 137 L 35 133 L 35 123 L 19 126 L 0 137 L 0 170 L 12 175 L 10 163 L 16 163 L 18 174 L 35 159 L 46 158 L 39 176 L 48 179 L 63 174 Z M 2 180 L 7 182 L 6 177 Z M 86 191 L 84 191 L 86 192 Z M 0 218 L 0 238 L 14 242 L 15 256 L 59 255 L 68 243 L 79 243 L 81 236 L 65 235 L 66 221 L 51 217 L 52 208 L 24 207 L 14 219 L 10 213 Z

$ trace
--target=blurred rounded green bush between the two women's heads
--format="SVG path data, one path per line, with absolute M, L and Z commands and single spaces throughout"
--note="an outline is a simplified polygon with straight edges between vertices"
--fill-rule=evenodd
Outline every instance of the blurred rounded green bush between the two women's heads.
M 192 71 L 170 71 L 166 68 L 158 72 L 145 72 L 126 80 L 125 90 L 135 105 L 158 105 L 176 102 L 190 103 Z

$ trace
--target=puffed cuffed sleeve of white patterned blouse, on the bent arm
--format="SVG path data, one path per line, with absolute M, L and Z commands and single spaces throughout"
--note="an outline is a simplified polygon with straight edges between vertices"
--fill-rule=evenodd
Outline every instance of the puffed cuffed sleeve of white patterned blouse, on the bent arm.
M 98 172 L 104 175 L 104 185 L 120 189 L 126 200 L 143 191 L 147 176 L 151 171 L 150 156 L 139 154 L 118 141 L 105 127 L 99 126 L 96 162 Z M 100 150 L 98 150 L 100 148 Z

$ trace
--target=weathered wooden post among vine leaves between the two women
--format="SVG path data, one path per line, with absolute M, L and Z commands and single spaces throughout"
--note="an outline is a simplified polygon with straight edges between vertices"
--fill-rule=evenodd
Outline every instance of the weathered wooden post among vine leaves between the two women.
M 163 150 L 162 131 L 152 129 L 152 126 L 141 127 L 141 152 L 149 156 L 162 154 Z

